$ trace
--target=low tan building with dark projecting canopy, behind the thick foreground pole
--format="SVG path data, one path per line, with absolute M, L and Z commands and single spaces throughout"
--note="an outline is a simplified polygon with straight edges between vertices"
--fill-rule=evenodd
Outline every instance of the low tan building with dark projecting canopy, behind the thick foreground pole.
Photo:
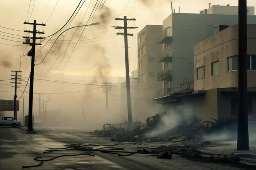
M 256 24 L 247 25 L 248 115 L 256 117 Z M 157 100 L 165 109 L 201 121 L 238 114 L 238 25 L 229 26 L 195 44 L 195 91 L 182 91 Z

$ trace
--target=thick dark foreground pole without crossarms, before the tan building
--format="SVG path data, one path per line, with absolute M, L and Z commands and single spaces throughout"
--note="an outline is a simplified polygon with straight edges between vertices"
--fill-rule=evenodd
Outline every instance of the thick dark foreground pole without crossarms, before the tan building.
M 237 150 L 249 150 L 247 111 L 247 7 L 238 0 L 238 129 Z

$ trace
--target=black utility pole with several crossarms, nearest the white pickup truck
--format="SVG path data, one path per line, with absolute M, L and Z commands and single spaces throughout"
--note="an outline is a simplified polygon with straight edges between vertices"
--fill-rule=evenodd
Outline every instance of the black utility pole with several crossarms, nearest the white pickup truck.
M 39 30 L 36 30 L 36 26 L 45 26 L 45 24 L 38 24 L 36 23 L 36 20 L 34 20 L 34 23 L 24 22 L 24 24 L 33 25 L 33 31 L 27 31 L 25 30 L 25 33 L 33 33 L 33 37 L 23 37 L 26 39 L 26 42 L 23 42 L 23 44 L 29 44 L 32 46 L 31 49 L 31 70 L 30 70 L 30 83 L 29 83 L 29 115 L 28 115 L 28 128 L 27 131 L 33 131 L 33 86 L 34 86 L 34 66 L 35 66 L 35 49 L 36 45 L 42 45 L 41 43 L 36 43 L 37 39 L 44 39 L 41 37 L 36 37 L 36 34 L 44 34 L 44 32 L 40 32 Z M 32 43 L 30 43 L 30 39 L 32 39 Z

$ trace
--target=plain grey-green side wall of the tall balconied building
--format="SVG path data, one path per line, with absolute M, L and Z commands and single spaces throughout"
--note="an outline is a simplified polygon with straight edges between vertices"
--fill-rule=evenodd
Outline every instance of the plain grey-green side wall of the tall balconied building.
M 256 23 L 256 16 L 248 15 L 247 23 Z M 234 24 L 238 24 L 237 15 L 173 13 L 163 21 L 163 28 L 173 28 L 173 88 L 184 79 L 194 79 L 194 44 L 214 35 L 218 25 Z

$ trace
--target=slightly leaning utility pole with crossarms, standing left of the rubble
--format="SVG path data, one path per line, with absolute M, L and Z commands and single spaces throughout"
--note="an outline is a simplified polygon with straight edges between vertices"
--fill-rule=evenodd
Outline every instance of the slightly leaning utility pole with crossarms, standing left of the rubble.
M 125 49 L 125 66 L 126 66 L 126 92 L 127 92 L 127 110 L 128 110 L 128 127 L 132 128 L 132 106 L 131 106 L 131 94 L 130 94 L 130 71 L 129 71 L 129 57 L 128 57 L 128 39 L 127 36 L 133 36 L 133 34 L 127 33 L 127 29 L 135 29 L 137 27 L 128 27 L 127 21 L 135 21 L 135 18 L 115 18 L 115 20 L 124 21 L 124 26 L 112 26 L 115 29 L 124 29 L 124 33 L 117 33 L 117 35 L 124 35 L 124 49 Z

